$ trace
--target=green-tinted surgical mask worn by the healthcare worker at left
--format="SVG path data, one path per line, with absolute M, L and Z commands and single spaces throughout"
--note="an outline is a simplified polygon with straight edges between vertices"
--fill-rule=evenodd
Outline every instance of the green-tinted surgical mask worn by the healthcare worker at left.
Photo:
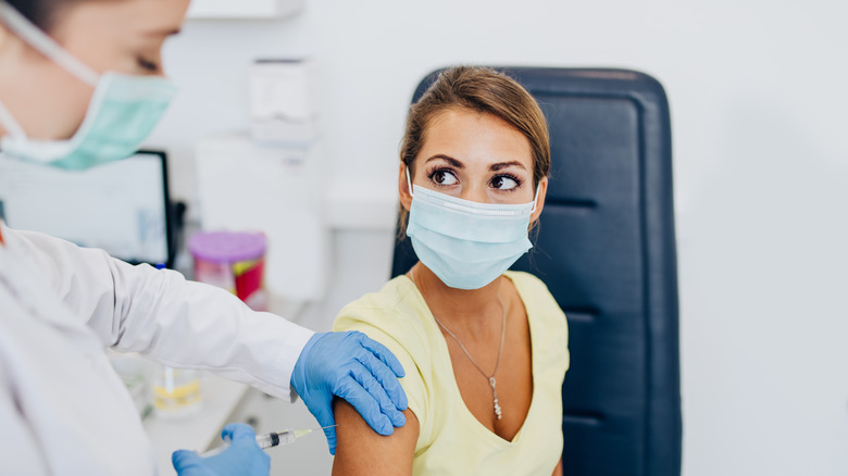
M 68 170 L 127 158 L 150 135 L 176 93 L 176 87 L 159 76 L 97 74 L 2 1 L 0 20 L 33 48 L 95 88 L 83 124 L 67 140 L 28 138 L 0 102 L 0 124 L 7 130 L 0 151 L 5 156 Z

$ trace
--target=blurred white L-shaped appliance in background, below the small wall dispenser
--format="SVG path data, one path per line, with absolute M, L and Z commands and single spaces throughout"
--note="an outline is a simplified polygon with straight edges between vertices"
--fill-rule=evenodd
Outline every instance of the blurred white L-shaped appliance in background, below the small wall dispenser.
M 282 312 L 280 300 L 324 297 L 329 239 L 319 146 L 260 147 L 245 134 L 220 135 L 197 146 L 202 227 L 265 234 L 272 312 Z

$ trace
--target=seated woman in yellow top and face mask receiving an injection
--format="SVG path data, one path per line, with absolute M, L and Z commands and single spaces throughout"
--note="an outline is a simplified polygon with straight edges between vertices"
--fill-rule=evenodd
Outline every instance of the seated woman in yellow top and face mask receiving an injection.
M 398 356 L 408 424 L 382 437 L 339 402 L 334 474 L 561 474 L 565 316 L 540 280 L 506 272 L 545 202 L 541 111 L 502 74 L 448 70 L 410 110 L 401 161 L 421 261 L 334 328 Z

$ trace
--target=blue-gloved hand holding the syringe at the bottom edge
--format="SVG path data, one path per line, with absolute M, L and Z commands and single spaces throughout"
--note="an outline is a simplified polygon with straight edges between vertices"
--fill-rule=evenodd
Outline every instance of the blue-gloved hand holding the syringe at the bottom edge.
M 271 456 L 257 444 L 253 428 L 244 423 L 224 427 L 221 438 L 229 439 L 229 448 L 214 456 L 200 458 L 194 451 L 174 451 L 171 461 L 179 476 L 267 476 Z

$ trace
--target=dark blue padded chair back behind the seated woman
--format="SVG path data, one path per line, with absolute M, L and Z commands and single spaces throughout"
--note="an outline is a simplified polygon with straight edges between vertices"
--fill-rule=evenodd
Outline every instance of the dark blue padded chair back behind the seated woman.
M 623 70 L 498 68 L 539 102 L 551 174 L 536 245 L 513 270 L 569 320 L 565 475 L 678 476 L 681 392 L 671 127 L 662 86 Z M 427 76 L 413 102 L 435 80 Z M 417 259 L 395 248 L 392 277 Z

